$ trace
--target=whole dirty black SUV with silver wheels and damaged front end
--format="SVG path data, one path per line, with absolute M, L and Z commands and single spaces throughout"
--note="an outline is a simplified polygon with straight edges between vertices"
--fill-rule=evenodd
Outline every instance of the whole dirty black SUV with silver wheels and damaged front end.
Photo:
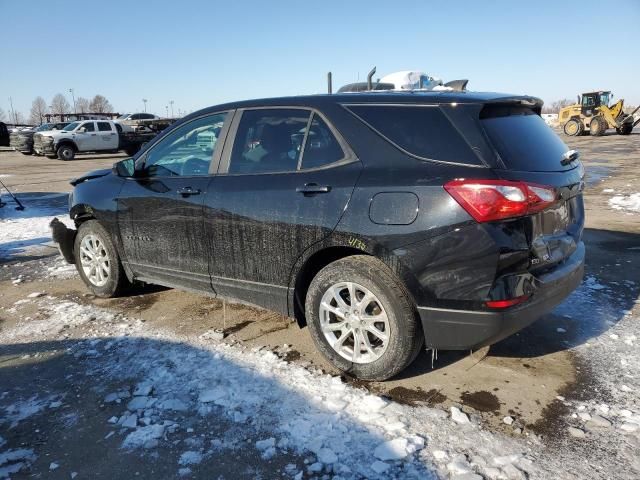
M 542 102 L 352 93 L 201 110 L 74 180 L 54 238 L 98 296 L 134 281 L 294 317 L 389 378 L 522 329 L 581 281 L 584 170 Z M 56 231 L 57 230 L 57 231 Z

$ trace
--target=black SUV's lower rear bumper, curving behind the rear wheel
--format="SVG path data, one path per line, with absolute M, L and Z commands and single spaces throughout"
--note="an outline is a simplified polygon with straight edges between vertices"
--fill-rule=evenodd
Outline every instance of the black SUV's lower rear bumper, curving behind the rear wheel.
M 530 300 L 505 311 L 418 307 L 427 346 L 443 350 L 478 349 L 522 330 L 553 310 L 580 285 L 584 257 L 581 242 L 561 266 L 536 278 Z

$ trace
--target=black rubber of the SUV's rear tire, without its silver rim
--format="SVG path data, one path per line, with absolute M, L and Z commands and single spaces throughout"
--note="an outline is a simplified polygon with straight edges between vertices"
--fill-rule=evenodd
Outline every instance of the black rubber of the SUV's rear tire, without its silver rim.
M 359 261 L 359 260 L 364 261 Z M 372 268 L 371 257 L 355 256 L 322 269 L 311 282 L 305 304 L 307 325 L 316 347 L 336 368 L 363 380 L 386 380 L 403 370 L 419 349 L 423 334 L 404 288 L 382 262 Z M 340 356 L 320 328 L 320 302 L 327 289 L 339 282 L 354 282 L 368 288 L 382 303 L 389 320 L 389 344 L 383 355 L 368 364 L 353 363 Z M 399 294 L 399 291 L 402 291 Z M 415 335 L 420 338 L 416 340 Z

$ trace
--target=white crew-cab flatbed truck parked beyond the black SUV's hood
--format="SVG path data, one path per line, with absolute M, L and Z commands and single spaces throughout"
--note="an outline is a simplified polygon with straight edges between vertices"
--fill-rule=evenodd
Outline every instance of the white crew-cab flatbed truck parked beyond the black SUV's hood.
M 79 120 L 62 130 L 36 133 L 33 151 L 36 155 L 61 160 L 73 160 L 76 153 L 86 152 L 124 150 L 127 155 L 134 155 L 143 143 L 156 135 L 156 132 L 125 131 L 126 128 L 111 120 Z

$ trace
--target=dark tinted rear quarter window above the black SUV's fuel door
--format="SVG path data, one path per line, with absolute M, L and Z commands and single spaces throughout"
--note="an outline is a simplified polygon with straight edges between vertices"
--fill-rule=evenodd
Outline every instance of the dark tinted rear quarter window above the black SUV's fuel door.
M 439 107 L 361 105 L 348 108 L 412 155 L 445 162 L 480 163 Z

